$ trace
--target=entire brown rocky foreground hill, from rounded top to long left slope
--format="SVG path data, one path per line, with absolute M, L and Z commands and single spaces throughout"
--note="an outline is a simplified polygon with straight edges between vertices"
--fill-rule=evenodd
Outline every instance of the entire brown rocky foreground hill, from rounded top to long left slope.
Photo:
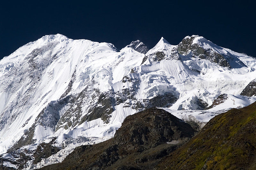
M 42 169 L 151 169 L 195 133 L 171 113 L 150 108 L 126 117 L 114 138 L 79 146 L 62 163 Z

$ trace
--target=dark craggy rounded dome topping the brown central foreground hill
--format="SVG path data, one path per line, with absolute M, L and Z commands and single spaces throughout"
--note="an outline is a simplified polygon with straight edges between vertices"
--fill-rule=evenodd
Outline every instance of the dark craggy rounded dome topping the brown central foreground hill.
M 134 120 L 136 119 L 136 120 Z M 157 146 L 186 137 L 192 137 L 193 128 L 161 109 L 150 108 L 128 116 L 116 132 L 114 143 Z

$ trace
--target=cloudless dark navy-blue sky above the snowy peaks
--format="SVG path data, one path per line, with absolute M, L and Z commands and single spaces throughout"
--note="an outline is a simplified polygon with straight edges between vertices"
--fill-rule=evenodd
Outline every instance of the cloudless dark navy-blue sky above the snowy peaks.
M 256 57 L 255 9 L 250 1 L 12 1 L 0 4 L 0 59 L 44 35 L 152 48 L 163 36 L 187 35 Z

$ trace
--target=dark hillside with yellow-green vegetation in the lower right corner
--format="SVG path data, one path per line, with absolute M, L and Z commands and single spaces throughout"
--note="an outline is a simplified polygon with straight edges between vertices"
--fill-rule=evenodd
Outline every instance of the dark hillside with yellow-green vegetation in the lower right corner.
M 212 118 L 156 169 L 255 169 L 256 102 Z

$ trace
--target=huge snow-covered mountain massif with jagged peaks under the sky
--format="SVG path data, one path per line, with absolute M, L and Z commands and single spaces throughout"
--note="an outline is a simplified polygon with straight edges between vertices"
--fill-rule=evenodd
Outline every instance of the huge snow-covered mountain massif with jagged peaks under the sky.
M 3 164 L 17 168 L 12 151 L 53 139 L 60 149 L 106 140 L 125 117 L 149 107 L 204 124 L 256 101 L 239 95 L 256 78 L 255 68 L 255 58 L 197 35 L 178 45 L 162 37 L 150 50 L 137 40 L 120 51 L 111 43 L 46 35 L 0 61 Z

